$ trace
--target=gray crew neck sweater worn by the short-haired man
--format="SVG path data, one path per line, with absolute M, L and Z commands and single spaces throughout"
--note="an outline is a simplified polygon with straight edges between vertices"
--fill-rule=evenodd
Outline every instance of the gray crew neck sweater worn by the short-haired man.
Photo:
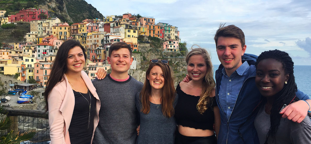
M 93 144 L 134 144 L 137 137 L 135 95 L 143 84 L 129 77 L 119 82 L 110 77 L 92 81 L 100 98 L 99 123 Z

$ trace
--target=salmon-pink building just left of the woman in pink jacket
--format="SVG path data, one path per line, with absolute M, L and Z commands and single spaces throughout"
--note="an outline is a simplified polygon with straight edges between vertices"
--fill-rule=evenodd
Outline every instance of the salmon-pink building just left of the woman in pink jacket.
M 46 82 L 48 81 L 51 73 L 52 63 L 51 62 L 37 62 L 35 63 L 35 80 L 37 84 L 42 87 L 46 87 Z

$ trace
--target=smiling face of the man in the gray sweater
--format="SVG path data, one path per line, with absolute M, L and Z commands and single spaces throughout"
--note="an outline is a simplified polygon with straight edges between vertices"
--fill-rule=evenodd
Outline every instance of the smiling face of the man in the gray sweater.
M 111 73 L 128 73 L 133 59 L 127 48 L 120 48 L 111 52 L 111 57 L 107 58 L 108 63 L 111 64 Z

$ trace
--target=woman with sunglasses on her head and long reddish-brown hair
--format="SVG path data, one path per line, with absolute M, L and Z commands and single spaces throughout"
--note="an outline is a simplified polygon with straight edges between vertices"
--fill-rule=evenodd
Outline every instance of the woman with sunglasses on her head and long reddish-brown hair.
M 178 96 L 167 60 L 151 60 L 135 102 L 140 128 L 136 143 L 174 143 L 174 107 Z

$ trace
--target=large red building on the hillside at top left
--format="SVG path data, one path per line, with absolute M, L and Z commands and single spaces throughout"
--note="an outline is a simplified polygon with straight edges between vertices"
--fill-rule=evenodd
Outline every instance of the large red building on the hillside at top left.
M 39 15 L 43 13 L 44 15 L 48 16 L 48 11 L 44 9 L 36 9 L 36 8 L 29 8 L 29 9 L 22 9 L 18 13 L 16 13 L 15 21 L 23 21 L 23 22 L 30 22 L 33 20 L 41 20 L 44 19 Z M 12 15 L 11 15 L 12 20 Z

